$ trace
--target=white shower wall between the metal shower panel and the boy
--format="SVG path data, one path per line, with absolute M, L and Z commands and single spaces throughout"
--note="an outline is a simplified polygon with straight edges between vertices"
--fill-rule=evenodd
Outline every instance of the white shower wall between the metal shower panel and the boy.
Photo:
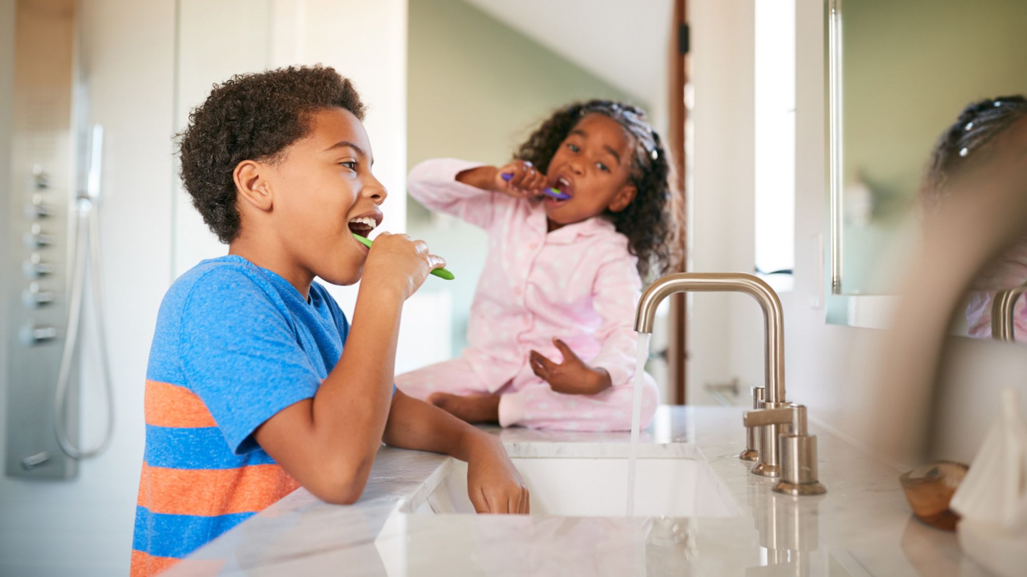
M 170 281 L 174 2 L 90 0 L 82 6 L 90 118 L 106 128 L 101 236 L 117 420 L 110 449 L 82 463 L 72 481 L 0 478 L 3 575 L 127 572 L 147 357 Z M 90 428 L 101 414 L 94 404 L 83 406 Z

